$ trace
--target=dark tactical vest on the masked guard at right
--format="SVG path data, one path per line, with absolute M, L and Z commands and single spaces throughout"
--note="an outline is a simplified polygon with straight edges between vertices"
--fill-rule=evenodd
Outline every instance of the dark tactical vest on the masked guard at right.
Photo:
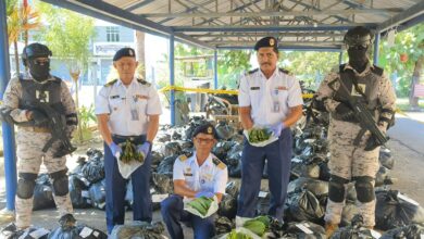
M 378 108 L 381 106 L 378 99 L 376 97 L 377 90 L 378 90 L 378 78 L 383 75 L 383 70 L 373 66 L 370 71 L 370 73 L 363 75 L 363 76 L 357 76 L 354 75 L 353 70 L 346 68 L 345 64 L 340 65 L 339 68 L 339 75 L 340 75 L 340 81 L 346 86 L 346 88 L 349 90 L 349 93 L 351 97 L 356 98 L 357 100 L 363 102 L 367 109 L 372 112 L 374 112 L 374 118 L 377 118 L 378 116 Z M 336 90 L 333 99 L 336 101 L 344 101 L 347 102 L 348 100 L 348 92 L 346 89 L 341 86 L 338 87 Z M 339 120 L 337 113 L 333 114 L 333 116 L 336 120 Z M 353 123 L 358 123 L 357 121 L 351 121 Z

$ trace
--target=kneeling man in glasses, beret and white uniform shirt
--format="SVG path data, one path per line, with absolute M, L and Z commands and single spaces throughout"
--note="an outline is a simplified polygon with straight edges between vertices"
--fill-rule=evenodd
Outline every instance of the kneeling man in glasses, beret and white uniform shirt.
M 201 218 L 184 211 L 183 198 L 212 198 L 221 202 L 228 180 L 226 165 L 211 153 L 217 134 L 210 123 L 200 125 L 192 135 L 196 151 L 180 155 L 174 163 L 174 192 L 161 203 L 161 213 L 171 238 L 184 238 L 180 222 L 189 222 L 195 238 L 212 238 L 215 235 L 213 216 Z

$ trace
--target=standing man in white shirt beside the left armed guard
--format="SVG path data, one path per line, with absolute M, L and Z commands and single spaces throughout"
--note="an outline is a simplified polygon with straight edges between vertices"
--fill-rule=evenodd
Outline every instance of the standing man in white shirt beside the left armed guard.
M 154 86 L 135 76 L 138 62 L 132 48 L 119 50 L 113 58 L 119 79 L 104 85 L 96 99 L 98 128 L 104 140 L 107 179 L 107 226 L 110 234 L 115 225 L 124 224 L 126 179 L 117 167 L 122 153 L 119 146 L 127 139 L 145 154 L 144 164 L 130 175 L 133 181 L 134 221 L 151 222 L 150 194 L 151 147 L 158 133 L 161 102 Z

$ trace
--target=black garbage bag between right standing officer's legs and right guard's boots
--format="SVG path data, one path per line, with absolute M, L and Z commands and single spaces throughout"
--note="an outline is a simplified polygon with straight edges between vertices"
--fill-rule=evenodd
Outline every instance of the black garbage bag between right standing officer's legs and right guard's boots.
M 300 193 L 292 196 L 289 212 L 290 216 L 297 222 L 322 223 L 325 210 L 311 191 L 302 190 Z

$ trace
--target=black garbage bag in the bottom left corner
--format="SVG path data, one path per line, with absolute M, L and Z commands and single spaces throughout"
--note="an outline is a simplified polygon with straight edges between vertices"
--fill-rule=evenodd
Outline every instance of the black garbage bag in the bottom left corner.
M 10 223 L 0 230 L 2 239 L 47 239 L 50 230 L 42 227 L 28 227 L 24 230 L 18 230 L 14 223 Z

